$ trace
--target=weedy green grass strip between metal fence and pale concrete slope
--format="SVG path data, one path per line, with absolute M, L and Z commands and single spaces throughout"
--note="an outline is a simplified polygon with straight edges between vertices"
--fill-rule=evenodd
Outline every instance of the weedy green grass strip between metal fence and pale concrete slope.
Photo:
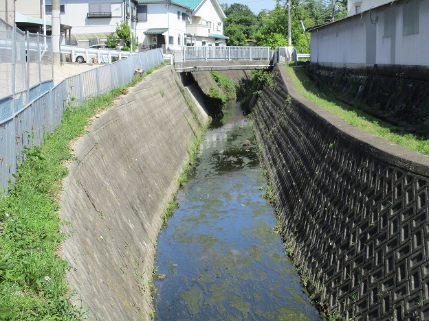
M 155 69 L 146 72 L 152 73 Z M 83 320 L 87 311 L 72 304 L 61 258 L 59 195 L 63 165 L 73 160 L 69 142 L 85 133 L 88 119 L 111 106 L 124 88 L 69 106 L 61 125 L 47 134 L 41 147 L 25 149 L 26 159 L 0 197 L 0 320 Z

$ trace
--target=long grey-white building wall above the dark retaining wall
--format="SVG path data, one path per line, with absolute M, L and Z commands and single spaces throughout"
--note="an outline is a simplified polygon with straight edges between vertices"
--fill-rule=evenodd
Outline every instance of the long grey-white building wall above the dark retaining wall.
M 403 35 L 403 10 L 404 3 L 382 6 L 371 10 L 371 15 L 363 12 L 311 30 L 311 63 L 350 68 L 373 64 L 429 66 L 429 1 L 419 1 L 418 34 Z M 391 30 L 385 33 L 388 16 L 393 19 Z

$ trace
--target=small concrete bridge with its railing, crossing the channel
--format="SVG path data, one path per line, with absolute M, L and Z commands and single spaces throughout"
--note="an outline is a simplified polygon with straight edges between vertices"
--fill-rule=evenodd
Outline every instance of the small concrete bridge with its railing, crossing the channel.
M 184 47 L 174 51 L 172 61 L 178 73 L 212 70 L 270 69 L 274 51 L 270 47 Z

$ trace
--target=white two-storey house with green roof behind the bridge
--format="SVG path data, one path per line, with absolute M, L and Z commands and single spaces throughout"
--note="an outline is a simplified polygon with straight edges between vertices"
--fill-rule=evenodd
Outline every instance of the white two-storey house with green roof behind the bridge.
M 135 34 L 141 49 L 225 46 L 223 19 L 217 0 L 137 0 Z

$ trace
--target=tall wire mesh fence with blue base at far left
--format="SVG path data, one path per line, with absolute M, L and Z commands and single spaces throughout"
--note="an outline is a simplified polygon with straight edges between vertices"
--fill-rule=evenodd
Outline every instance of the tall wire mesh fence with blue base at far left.
M 51 37 L 0 19 L 0 121 L 54 86 Z

